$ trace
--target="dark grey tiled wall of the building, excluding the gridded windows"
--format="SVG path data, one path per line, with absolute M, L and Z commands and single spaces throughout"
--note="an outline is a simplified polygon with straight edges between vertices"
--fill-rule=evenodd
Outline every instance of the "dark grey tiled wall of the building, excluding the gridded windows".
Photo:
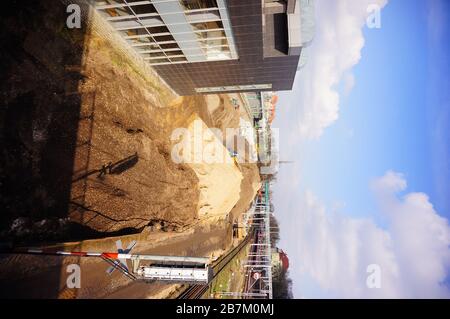
M 283 52 L 267 55 L 273 51 L 273 43 L 267 39 L 283 39 L 287 35 L 265 35 L 262 1 L 227 0 L 226 4 L 239 59 L 154 66 L 159 75 L 180 95 L 199 93 L 198 88 L 246 85 L 266 86 L 264 90 L 268 91 L 292 89 L 299 55 Z M 285 19 L 271 19 L 270 23 L 283 24 L 275 26 L 275 32 L 287 32 Z M 207 92 L 203 90 L 201 93 Z

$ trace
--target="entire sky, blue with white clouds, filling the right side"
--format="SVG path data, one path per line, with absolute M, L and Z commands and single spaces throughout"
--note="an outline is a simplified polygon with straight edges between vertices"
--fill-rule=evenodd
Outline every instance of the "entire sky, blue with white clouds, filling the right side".
M 295 297 L 450 297 L 449 13 L 316 0 L 308 63 L 274 123 L 295 161 L 274 191 Z

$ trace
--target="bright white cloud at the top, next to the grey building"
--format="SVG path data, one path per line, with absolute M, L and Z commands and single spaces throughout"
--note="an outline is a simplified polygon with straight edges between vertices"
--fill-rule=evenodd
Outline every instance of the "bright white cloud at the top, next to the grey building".
M 317 0 L 316 36 L 309 60 L 297 74 L 293 95 L 300 105 L 299 128 L 303 138 L 318 138 L 339 117 L 338 85 L 345 93 L 355 84 L 351 69 L 361 59 L 362 29 L 371 4 L 384 7 L 387 0 Z M 374 31 L 376 32 L 376 31 Z

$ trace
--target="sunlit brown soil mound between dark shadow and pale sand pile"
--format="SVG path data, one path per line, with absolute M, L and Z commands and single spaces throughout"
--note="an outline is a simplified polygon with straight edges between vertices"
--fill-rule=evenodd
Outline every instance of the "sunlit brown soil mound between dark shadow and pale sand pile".
M 82 104 L 82 118 L 88 120 L 80 122 L 78 140 L 90 143 L 76 152 L 75 167 L 85 169 L 72 188 L 71 220 L 108 232 L 154 221 L 166 228 L 192 223 L 198 213 L 198 176 L 170 158 L 168 128 L 175 125 L 178 110 L 162 112 L 167 105 L 158 103 L 158 92 L 124 67 L 125 59 L 117 67 L 108 66 L 107 61 L 123 58 L 120 55 L 112 59 L 101 46 L 89 52 L 81 90 L 91 99 Z M 187 114 L 192 111 L 186 109 Z M 82 178 L 105 164 L 106 174 Z

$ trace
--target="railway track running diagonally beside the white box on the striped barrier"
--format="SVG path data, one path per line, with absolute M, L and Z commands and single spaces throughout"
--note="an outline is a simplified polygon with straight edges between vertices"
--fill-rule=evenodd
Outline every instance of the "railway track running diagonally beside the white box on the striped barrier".
M 212 265 L 214 275 L 216 278 L 220 272 L 236 257 L 237 254 L 248 244 L 248 242 L 253 239 L 254 231 L 251 231 L 243 241 L 239 243 L 235 248 L 233 248 L 228 254 L 221 256 Z M 200 299 L 202 298 L 209 289 L 208 285 L 191 285 L 186 290 L 184 290 L 177 299 Z

